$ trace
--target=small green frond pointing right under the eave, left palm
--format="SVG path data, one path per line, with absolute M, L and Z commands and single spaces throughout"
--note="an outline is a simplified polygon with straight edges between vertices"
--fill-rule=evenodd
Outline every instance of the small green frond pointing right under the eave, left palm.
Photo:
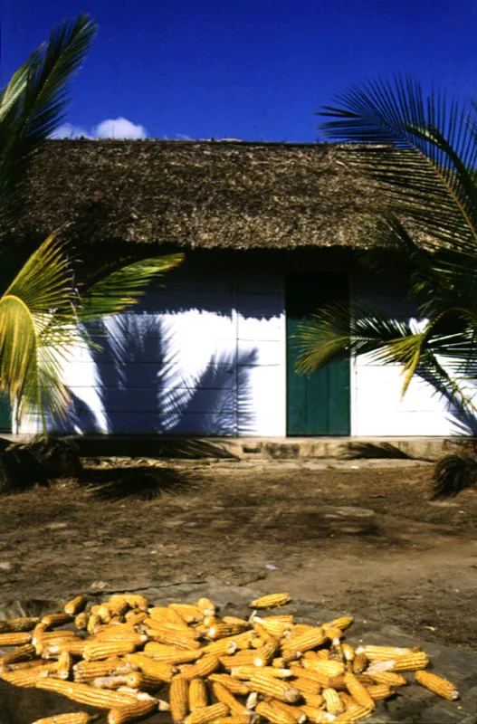
M 116 314 L 135 304 L 152 279 L 174 269 L 184 254 L 166 254 L 133 262 L 86 288 L 79 309 L 81 321 Z

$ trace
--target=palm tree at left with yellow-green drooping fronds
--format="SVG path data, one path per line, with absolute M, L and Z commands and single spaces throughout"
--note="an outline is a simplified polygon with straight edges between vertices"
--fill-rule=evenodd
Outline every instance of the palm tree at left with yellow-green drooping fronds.
M 7 252 L 12 256 L 10 241 L 24 204 L 25 176 L 35 153 L 62 120 L 68 83 L 96 30 L 88 15 L 60 24 L 0 91 L 0 255 L 4 258 Z M 21 246 L 14 248 L 17 255 Z M 72 261 L 55 234 L 33 252 L 0 297 L 0 392 L 9 397 L 16 425 L 39 416 L 46 434 L 48 416 L 64 418 L 71 400 L 62 383 L 62 367 L 74 345 L 91 344 L 83 323 L 126 309 L 148 281 L 181 259 L 181 254 L 174 254 L 116 262 L 113 271 L 96 270 L 78 287 Z

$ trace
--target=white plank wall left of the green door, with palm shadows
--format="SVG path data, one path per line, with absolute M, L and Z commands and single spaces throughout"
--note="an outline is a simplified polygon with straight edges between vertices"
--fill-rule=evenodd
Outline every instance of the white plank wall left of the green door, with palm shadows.
M 65 367 L 65 430 L 285 434 L 281 275 L 176 271 L 103 332 L 102 351 Z

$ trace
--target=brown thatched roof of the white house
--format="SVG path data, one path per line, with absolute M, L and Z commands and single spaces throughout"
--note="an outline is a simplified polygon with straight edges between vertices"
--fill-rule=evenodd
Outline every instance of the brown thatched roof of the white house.
M 376 197 L 335 145 L 52 140 L 38 154 L 20 233 L 70 224 L 81 243 L 198 248 L 363 247 Z

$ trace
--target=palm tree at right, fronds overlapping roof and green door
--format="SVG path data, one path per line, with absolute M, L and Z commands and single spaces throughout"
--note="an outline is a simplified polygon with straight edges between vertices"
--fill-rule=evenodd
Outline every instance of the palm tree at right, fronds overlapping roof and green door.
M 425 93 L 413 78 L 354 86 L 326 106 L 327 138 L 351 142 L 352 173 L 376 186 L 383 247 L 365 261 L 407 272 L 420 323 L 378 310 L 334 305 L 303 325 L 301 371 L 349 354 L 403 368 L 403 395 L 421 376 L 468 413 L 477 378 L 477 105 Z M 435 472 L 437 495 L 471 484 L 455 459 Z

